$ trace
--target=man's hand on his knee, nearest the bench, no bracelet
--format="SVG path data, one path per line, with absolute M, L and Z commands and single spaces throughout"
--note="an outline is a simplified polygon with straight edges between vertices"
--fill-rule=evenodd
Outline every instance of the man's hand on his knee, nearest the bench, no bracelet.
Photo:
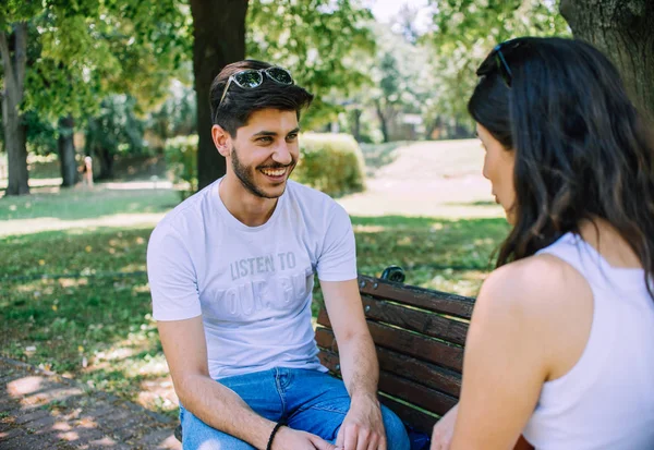
M 350 411 L 336 437 L 343 450 L 386 450 L 386 431 L 379 401 L 372 396 L 352 399 Z

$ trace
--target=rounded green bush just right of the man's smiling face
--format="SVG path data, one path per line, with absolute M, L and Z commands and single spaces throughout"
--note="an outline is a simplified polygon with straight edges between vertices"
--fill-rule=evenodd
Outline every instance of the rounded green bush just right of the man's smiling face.
M 365 188 L 365 165 L 359 144 L 349 134 L 303 133 L 298 182 L 339 196 Z

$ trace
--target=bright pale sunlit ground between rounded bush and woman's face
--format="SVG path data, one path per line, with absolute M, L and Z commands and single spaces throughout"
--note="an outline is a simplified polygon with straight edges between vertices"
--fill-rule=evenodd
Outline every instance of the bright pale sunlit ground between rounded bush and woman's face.
M 482 175 L 477 139 L 417 142 L 395 153 L 364 192 L 338 199 L 351 216 L 504 217 Z

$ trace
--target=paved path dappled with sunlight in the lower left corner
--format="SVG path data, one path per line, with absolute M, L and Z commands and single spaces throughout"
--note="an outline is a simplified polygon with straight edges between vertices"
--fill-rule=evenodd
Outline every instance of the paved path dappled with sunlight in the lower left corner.
M 181 449 L 175 421 L 0 357 L 0 450 Z

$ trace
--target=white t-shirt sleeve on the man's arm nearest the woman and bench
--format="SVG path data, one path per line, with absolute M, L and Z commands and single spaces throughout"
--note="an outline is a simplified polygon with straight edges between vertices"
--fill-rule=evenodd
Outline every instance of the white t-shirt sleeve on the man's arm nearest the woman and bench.
M 356 246 L 350 216 L 338 204 L 330 208 L 323 251 L 316 271 L 322 281 L 348 281 L 356 278 Z

